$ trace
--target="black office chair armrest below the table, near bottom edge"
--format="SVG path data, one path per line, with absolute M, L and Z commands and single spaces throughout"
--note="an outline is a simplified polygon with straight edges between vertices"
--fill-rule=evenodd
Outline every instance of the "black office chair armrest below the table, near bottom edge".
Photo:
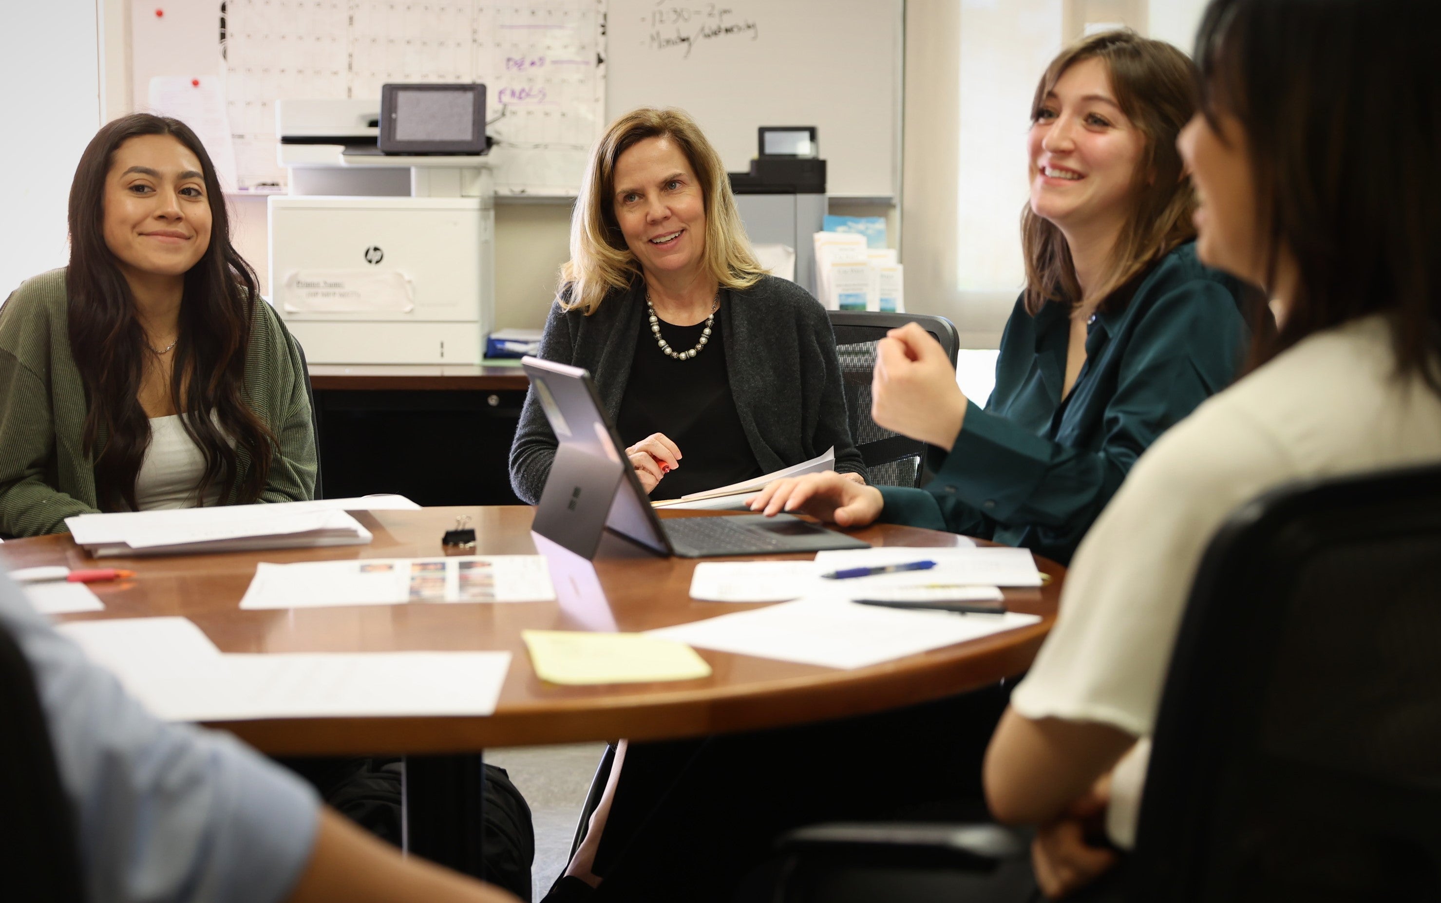
M 777 850 L 801 858 L 843 858 L 850 866 L 945 867 L 990 871 L 1027 855 L 1029 841 L 1000 825 L 944 822 L 834 822 L 797 828 Z

